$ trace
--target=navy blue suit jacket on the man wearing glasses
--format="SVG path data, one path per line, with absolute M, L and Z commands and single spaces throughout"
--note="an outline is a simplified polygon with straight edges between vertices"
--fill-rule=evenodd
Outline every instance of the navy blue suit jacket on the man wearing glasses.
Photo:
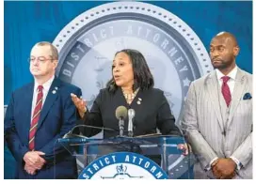
M 5 116 L 5 139 L 15 160 L 17 178 L 76 178 L 75 159 L 56 140 L 75 126 L 76 109 L 71 93 L 81 96 L 81 90 L 55 78 L 40 113 L 35 136 L 35 150 L 45 153 L 47 161 L 35 176 L 24 171 L 24 154 L 28 149 L 31 123 L 31 105 L 34 83 L 27 84 L 12 93 Z M 54 94 L 53 91 L 56 91 Z M 55 158 L 56 154 L 56 158 Z M 56 162 L 56 164 L 54 164 Z

